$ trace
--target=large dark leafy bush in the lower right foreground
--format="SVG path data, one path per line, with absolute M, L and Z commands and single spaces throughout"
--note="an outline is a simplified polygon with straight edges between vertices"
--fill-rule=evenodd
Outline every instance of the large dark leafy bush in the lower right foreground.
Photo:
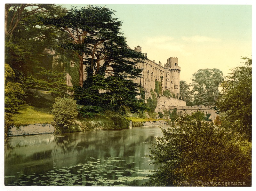
M 238 180 L 251 185 L 250 143 L 227 139 L 224 131 L 203 117 L 199 111 L 181 115 L 178 127 L 161 128 L 164 136 L 156 138 L 149 155 L 153 164 L 161 165 L 146 186 L 224 186 L 221 182 Z

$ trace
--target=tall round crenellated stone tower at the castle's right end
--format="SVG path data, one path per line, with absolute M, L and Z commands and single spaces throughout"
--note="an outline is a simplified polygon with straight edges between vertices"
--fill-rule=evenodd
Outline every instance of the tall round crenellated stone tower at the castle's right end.
M 171 57 L 167 59 L 165 65 L 170 70 L 170 86 L 171 92 L 173 92 L 176 98 L 180 97 L 180 67 L 177 57 Z

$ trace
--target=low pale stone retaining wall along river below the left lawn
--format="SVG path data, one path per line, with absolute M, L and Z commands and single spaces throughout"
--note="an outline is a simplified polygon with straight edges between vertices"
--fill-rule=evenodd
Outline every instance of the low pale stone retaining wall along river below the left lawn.
M 54 133 L 54 127 L 51 124 L 30 124 L 21 126 L 17 129 L 15 126 L 10 129 L 10 136 L 37 135 Z

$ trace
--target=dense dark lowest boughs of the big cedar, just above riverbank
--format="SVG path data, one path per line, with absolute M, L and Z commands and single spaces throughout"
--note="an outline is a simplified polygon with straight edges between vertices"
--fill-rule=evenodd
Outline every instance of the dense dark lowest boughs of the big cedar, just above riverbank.
M 77 100 L 81 116 L 92 117 L 106 110 L 121 114 L 126 111 L 139 113 L 146 107 L 143 100 L 136 98 L 140 95 L 137 90 L 138 84 L 132 80 L 95 75 L 88 77 L 83 87 L 76 86 L 74 99 Z

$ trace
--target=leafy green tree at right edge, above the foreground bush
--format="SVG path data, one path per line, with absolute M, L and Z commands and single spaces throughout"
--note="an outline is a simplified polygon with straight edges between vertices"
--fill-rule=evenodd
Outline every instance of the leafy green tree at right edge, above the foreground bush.
M 245 66 L 232 70 L 222 84 L 217 108 L 222 114 L 222 126 L 252 140 L 252 59 L 243 58 Z

